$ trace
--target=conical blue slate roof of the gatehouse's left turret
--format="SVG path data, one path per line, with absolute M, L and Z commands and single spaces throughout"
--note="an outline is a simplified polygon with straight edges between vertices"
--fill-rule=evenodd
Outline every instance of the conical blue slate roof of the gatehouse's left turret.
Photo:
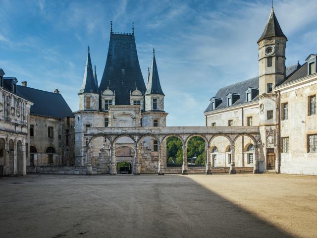
M 81 94 L 81 93 L 98 93 L 98 87 L 96 87 L 93 66 L 91 64 L 91 59 L 90 59 L 89 46 L 88 46 L 88 55 L 86 60 L 83 84 L 81 85 L 81 88 L 78 94 Z

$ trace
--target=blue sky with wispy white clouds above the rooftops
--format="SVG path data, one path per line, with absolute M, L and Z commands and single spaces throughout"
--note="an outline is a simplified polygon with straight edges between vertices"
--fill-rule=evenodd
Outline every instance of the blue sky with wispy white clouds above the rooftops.
M 42 90 L 60 90 L 78 110 L 87 47 L 99 82 L 106 64 L 110 21 L 131 32 L 143 76 L 152 48 L 168 126 L 205 125 L 203 112 L 219 87 L 258 75 L 257 40 L 270 0 L 0 0 L 0 68 Z M 316 0 L 275 0 L 288 38 L 286 65 L 316 53 Z

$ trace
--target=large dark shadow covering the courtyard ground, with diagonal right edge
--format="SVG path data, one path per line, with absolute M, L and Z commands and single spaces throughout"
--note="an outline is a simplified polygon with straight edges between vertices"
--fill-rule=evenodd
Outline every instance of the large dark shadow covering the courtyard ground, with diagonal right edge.
M 0 190 L 5 238 L 295 237 L 186 176 L 27 175 Z

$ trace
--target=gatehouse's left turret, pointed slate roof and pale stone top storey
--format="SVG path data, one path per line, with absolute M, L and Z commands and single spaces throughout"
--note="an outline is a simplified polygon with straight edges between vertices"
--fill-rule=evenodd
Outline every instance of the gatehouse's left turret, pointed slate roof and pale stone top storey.
M 88 55 L 85 66 L 83 84 L 78 92 L 79 111 L 99 110 L 99 93 L 97 75 L 94 77 L 93 66 L 90 59 L 90 49 L 88 46 Z

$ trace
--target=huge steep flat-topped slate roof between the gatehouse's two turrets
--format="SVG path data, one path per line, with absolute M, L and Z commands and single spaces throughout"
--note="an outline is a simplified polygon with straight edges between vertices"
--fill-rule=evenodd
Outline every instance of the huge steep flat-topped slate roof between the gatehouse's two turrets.
M 115 91 L 116 105 L 130 105 L 130 91 L 145 92 L 134 33 L 110 33 L 109 48 L 99 92 Z

